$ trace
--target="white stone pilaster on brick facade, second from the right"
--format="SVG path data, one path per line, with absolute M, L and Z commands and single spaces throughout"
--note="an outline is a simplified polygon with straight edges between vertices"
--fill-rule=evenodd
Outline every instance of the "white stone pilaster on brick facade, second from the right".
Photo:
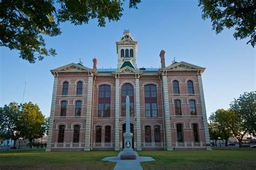
M 166 137 L 166 150 L 172 151 L 172 136 L 171 136 L 171 121 L 170 121 L 170 104 L 167 85 L 167 76 L 162 78 L 163 82 L 163 95 L 164 95 L 164 121 L 165 121 L 165 137 Z

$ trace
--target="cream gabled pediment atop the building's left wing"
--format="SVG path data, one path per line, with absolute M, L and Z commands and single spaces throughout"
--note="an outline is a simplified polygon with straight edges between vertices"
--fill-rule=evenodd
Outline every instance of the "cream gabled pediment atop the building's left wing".
M 81 64 L 72 62 L 72 63 L 69 63 L 68 65 L 58 67 L 50 71 L 51 72 L 80 72 L 80 71 L 89 71 L 89 70 L 93 70 L 93 69 L 85 67 Z

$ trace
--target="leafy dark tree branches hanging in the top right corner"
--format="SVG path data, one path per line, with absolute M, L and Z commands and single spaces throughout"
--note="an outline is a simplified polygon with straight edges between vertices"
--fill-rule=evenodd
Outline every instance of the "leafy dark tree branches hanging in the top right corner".
M 216 34 L 223 31 L 224 27 L 234 27 L 234 38 L 250 38 L 247 44 L 255 46 L 255 9 L 253 0 L 199 0 L 202 9 L 202 18 L 210 18 L 212 29 Z

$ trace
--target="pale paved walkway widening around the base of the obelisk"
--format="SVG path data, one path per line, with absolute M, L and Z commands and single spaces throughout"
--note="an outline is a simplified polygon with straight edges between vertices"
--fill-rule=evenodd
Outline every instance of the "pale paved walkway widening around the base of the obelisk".
M 154 161 L 152 157 L 139 157 L 138 153 L 135 152 L 137 155 L 136 160 L 120 160 L 120 155 L 122 152 L 118 154 L 117 157 L 106 157 L 103 160 L 105 161 L 110 161 L 110 162 L 117 162 L 116 166 L 114 167 L 114 170 L 119 170 L 119 169 L 142 169 L 142 165 L 140 165 L 140 162 L 149 162 L 149 161 Z

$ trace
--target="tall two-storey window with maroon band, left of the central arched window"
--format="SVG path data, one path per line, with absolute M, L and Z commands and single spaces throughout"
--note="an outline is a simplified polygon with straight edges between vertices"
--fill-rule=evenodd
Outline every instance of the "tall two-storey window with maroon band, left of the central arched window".
M 98 117 L 110 117 L 110 86 L 99 86 Z

